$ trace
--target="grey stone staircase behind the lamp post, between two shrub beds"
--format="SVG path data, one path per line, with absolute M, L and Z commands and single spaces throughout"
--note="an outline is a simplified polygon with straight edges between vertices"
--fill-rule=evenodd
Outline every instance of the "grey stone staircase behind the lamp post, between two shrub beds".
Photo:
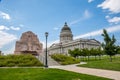
M 38 58 L 45 65 L 45 55 L 40 55 Z M 60 66 L 58 62 L 51 58 L 51 56 L 47 57 L 48 66 Z

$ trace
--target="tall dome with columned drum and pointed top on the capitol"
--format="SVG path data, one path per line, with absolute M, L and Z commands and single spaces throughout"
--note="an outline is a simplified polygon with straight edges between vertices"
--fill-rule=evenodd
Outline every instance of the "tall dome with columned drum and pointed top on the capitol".
M 68 27 L 67 23 L 65 22 L 60 32 L 60 42 L 68 42 L 71 40 L 73 40 L 72 31 L 70 27 Z

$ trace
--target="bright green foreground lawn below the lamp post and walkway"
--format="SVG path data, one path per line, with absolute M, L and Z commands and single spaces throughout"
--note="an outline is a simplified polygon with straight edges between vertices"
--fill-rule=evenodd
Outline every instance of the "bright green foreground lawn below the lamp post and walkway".
M 0 80 L 111 80 L 59 69 L 0 68 Z

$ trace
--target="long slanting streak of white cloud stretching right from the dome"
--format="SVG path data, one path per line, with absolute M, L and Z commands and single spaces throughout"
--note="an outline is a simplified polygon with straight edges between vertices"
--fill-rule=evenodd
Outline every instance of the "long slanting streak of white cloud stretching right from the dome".
M 109 28 L 105 28 L 108 32 L 116 32 L 116 31 L 120 31 L 120 25 L 117 26 L 112 26 Z M 85 38 L 85 37 L 90 37 L 90 36 L 97 36 L 97 35 L 101 35 L 103 33 L 103 29 L 100 30 L 96 30 L 96 31 L 92 31 L 83 35 L 79 35 L 74 37 L 74 39 L 78 39 L 78 38 Z

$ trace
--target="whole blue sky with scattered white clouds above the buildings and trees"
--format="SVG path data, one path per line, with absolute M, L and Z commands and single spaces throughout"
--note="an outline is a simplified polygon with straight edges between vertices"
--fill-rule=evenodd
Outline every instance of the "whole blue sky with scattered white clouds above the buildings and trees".
M 114 3 L 114 4 L 113 4 Z M 115 35 L 120 44 L 120 0 L 1 0 L 0 50 L 13 53 L 21 34 L 33 31 L 40 42 L 58 42 L 67 22 L 74 39 L 95 38 L 100 42 L 102 29 Z

